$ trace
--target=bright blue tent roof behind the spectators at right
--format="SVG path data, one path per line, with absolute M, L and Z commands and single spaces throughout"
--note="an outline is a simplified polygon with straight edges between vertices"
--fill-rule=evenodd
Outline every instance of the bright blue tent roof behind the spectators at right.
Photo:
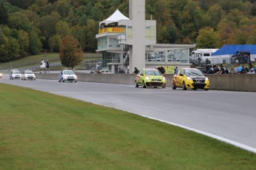
M 256 44 L 237 44 L 237 45 L 224 45 L 211 55 L 234 55 L 237 51 L 249 51 L 251 55 L 256 55 Z

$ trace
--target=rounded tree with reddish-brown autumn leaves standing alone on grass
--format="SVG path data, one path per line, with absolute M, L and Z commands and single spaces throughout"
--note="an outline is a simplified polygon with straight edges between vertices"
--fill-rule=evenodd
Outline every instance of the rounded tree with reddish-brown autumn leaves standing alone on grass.
M 82 50 L 79 41 L 73 35 L 67 35 L 62 38 L 59 47 L 59 58 L 65 67 L 76 67 L 82 62 Z

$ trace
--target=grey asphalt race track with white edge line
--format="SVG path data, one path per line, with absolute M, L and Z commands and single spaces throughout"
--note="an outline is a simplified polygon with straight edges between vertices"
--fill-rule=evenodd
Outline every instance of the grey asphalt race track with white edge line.
M 256 93 L 222 90 L 135 88 L 133 85 L 53 80 L 9 80 L 0 83 L 24 86 L 69 98 L 113 107 L 181 126 L 256 153 Z

